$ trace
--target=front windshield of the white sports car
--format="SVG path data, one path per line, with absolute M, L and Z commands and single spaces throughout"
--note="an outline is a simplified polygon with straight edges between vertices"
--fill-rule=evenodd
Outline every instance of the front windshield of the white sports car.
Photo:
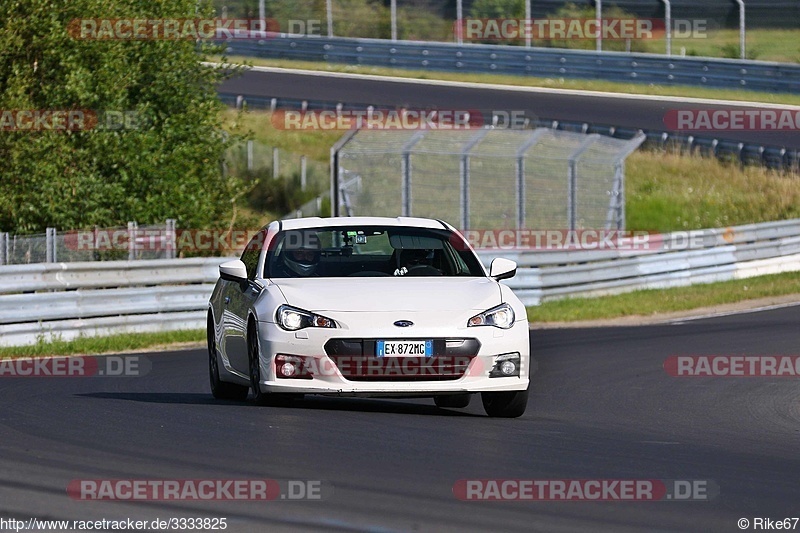
M 345 226 L 287 230 L 270 243 L 264 276 L 484 276 L 457 234 L 441 229 Z

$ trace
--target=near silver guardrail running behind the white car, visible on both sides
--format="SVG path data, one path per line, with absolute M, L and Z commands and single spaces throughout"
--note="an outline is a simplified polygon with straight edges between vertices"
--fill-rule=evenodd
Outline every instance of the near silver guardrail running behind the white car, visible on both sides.
M 800 271 L 800 219 L 650 236 L 648 249 L 479 250 L 516 260 L 508 285 L 526 305 Z M 686 249 L 686 243 L 694 243 Z M 80 335 L 201 329 L 229 258 L 0 267 L 0 346 Z

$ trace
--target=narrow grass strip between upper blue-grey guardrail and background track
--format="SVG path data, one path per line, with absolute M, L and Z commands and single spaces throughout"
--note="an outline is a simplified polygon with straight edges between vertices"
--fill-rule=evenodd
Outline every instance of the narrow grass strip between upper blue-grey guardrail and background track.
M 213 60 L 213 59 L 212 59 Z M 219 58 L 216 58 L 219 60 Z M 575 80 L 565 78 L 535 78 L 528 76 L 512 76 L 500 74 L 470 74 L 460 72 L 432 72 L 424 70 L 390 69 L 384 67 L 368 67 L 344 64 L 328 64 L 313 61 L 295 61 L 288 59 L 261 59 L 253 57 L 232 56 L 226 58 L 229 63 L 242 63 L 257 66 L 319 70 L 325 72 L 347 72 L 352 74 L 371 74 L 374 76 L 400 76 L 413 79 L 435 79 L 456 82 L 490 83 L 517 85 L 520 87 L 546 87 L 554 89 L 574 89 L 586 91 L 603 91 L 622 94 L 649 94 L 654 96 L 683 96 L 693 98 L 710 98 L 713 100 L 735 100 L 748 102 L 764 102 L 783 105 L 800 105 L 800 95 L 789 93 L 765 93 L 741 89 L 711 89 L 684 85 L 656 85 L 645 83 L 620 83 L 603 80 Z M 359 102 L 362 103 L 362 102 Z

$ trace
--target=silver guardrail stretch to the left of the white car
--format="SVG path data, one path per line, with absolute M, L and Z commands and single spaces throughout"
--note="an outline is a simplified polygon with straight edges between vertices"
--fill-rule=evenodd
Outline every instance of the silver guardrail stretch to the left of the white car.
M 0 346 L 80 335 L 202 329 L 230 258 L 0 267 Z

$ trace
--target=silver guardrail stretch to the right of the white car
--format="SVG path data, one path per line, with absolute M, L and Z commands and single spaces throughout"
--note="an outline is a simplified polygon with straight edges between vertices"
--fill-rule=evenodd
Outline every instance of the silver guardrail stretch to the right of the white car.
M 693 243 L 693 244 L 688 244 Z M 800 220 L 651 236 L 647 250 L 483 250 L 517 261 L 508 280 L 525 305 L 800 271 Z

